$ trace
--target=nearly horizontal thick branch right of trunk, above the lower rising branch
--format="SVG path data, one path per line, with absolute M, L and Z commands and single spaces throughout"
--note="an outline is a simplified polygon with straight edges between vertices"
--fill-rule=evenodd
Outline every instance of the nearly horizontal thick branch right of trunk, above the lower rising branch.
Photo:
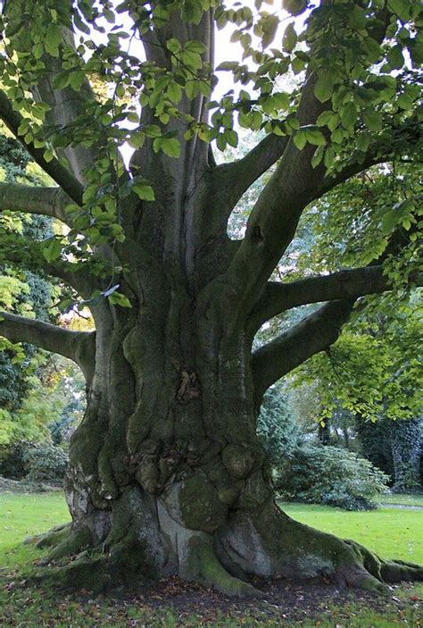
M 390 286 L 384 277 L 382 266 L 332 272 L 328 275 L 307 277 L 290 283 L 270 281 L 252 318 L 258 329 L 272 316 L 281 314 L 292 307 L 341 298 L 358 298 L 388 289 Z

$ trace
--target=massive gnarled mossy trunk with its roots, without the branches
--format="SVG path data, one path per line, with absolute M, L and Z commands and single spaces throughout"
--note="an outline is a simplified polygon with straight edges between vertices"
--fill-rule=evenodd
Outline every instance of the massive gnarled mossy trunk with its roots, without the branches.
M 155 159 L 149 178 L 160 191 L 142 214 L 144 253 L 120 288 L 132 308 L 93 306 L 95 350 L 81 362 L 92 359 L 94 373 L 86 368 L 87 413 L 65 483 L 72 525 L 41 541 L 61 540 L 46 562 L 79 554 L 61 575 L 95 589 L 171 574 L 228 594 L 257 593 L 252 575 L 376 589 L 414 577 L 411 565 L 295 523 L 275 504 L 256 436 L 265 386 L 252 359 L 255 314 L 224 279 L 226 233 L 210 240 L 196 219 L 220 202 L 206 158 L 191 162 L 185 185 L 187 170 Z M 122 250 L 137 255 L 135 244 Z

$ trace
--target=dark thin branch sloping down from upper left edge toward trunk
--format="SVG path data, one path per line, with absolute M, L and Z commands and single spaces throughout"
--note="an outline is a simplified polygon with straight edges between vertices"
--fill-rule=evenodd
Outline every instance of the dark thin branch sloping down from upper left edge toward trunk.
M 79 180 L 69 172 L 58 159 L 53 158 L 47 162 L 44 157 L 44 148 L 36 148 L 33 142 L 26 143 L 23 138 L 18 135 L 18 129 L 21 125 L 22 116 L 13 110 L 12 103 L 9 98 L 0 90 L 0 118 L 6 126 L 12 131 L 13 135 L 18 138 L 23 146 L 28 150 L 29 155 L 50 177 L 61 186 L 61 188 L 77 203 L 82 205 L 82 193 L 84 188 Z

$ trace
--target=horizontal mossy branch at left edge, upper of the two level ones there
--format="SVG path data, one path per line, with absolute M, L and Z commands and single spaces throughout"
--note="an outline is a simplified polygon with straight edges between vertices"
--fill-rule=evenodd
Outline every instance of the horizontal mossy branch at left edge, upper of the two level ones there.
M 38 188 L 21 183 L 0 182 L 0 212 L 41 214 L 68 222 L 64 208 L 71 203 L 62 188 Z

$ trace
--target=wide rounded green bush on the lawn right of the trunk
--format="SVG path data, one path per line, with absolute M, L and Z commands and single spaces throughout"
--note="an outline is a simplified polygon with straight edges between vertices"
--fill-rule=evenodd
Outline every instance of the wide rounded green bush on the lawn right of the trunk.
M 303 445 L 285 457 L 275 470 L 280 497 L 337 506 L 345 510 L 370 510 L 374 498 L 388 491 L 389 476 L 368 460 L 336 447 Z

